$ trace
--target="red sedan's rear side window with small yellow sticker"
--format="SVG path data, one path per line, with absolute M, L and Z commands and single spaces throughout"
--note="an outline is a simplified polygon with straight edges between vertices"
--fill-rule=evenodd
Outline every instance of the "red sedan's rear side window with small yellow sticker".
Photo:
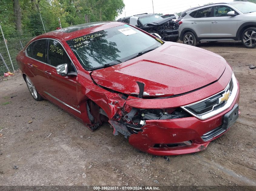
M 41 62 L 46 62 L 46 39 L 36 40 L 26 49 L 27 55 Z

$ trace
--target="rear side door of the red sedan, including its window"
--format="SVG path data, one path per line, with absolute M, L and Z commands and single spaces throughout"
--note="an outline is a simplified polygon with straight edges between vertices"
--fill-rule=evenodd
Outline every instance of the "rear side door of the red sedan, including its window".
M 32 42 L 26 49 L 28 59 L 26 59 L 25 65 L 32 73 L 26 75 L 31 79 L 40 94 L 43 94 L 42 91 L 47 78 L 44 71 L 45 62 L 47 62 L 46 45 L 47 40 L 40 39 Z

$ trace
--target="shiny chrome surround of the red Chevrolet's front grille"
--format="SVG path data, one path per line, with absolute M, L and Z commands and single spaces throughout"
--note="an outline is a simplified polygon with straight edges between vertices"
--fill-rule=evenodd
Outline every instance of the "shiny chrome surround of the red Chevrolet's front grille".
M 214 95 L 212 95 L 211 97 L 208 97 L 208 98 L 206 98 L 206 99 L 204 99 L 204 100 L 200 100 L 200 101 L 198 101 L 198 102 L 195 102 L 195 103 L 191 103 L 191 104 L 189 104 L 189 105 L 182 106 L 181 108 L 184 109 L 185 111 L 187 111 L 188 113 L 190 113 L 192 116 L 194 116 L 194 117 L 196 117 L 196 118 L 198 118 L 198 119 L 201 119 L 201 120 L 209 119 L 210 117 L 215 116 L 215 115 L 217 115 L 217 114 L 223 112 L 224 110 L 227 110 L 227 109 L 231 106 L 231 104 L 233 103 L 233 101 L 234 101 L 234 99 L 235 99 L 235 97 L 236 97 L 237 91 L 238 91 L 237 80 L 236 80 L 236 78 L 235 78 L 235 76 L 234 76 L 234 72 L 232 72 L 231 80 L 233 80 L 233 91 L 232 91 L 232 94 L 230 95 L 230 97 L 228 98 L 227 103 L 226 103 L 223 107 L 220 107 L 220 108 L 218 108 L 217 110 L 211 110 L 211 111 L 209 111 L 209 112 L 207 112 L 207 113 L 203 113 L 203 114 L 201 114 L 201 115 L 196 115 L 196 114 L 194 114 L 193 112 L 191 112 L 191 111 L 189 111 L 188 109 L 186 109 L 186 107 L 189 107 L 189 106 L 191 106 L 191 105 L 194 105 L 194 104 L 203 102 L 203 101 L 205 101 L 205 100 L 209 100 L 211 97 L 216 96 L 216 95 L 220 94 L 221 92 L 227 90 L 228 87 L 229 87 L 230 81 L 228 82 L 228 85 L 226 86 L 226 88 L 225 88 L 224 90 L 220 91 L 219 93 L 214 94 Z

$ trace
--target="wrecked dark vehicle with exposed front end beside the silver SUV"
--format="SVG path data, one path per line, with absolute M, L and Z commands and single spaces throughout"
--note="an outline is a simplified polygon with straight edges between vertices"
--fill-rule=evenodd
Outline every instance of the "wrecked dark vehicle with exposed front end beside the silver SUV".
M 157 14 L 144 13 L 132 17 L 120 18 L 118 21 L 131 24 L 132 26 L 145 30 L 156 37 L 160 36 L 161 39 L 165 41 L 176 42 L 179 37 L 179 24 L 173 21 L 173 19 L 176 19 L 175 15 L 168 18 L 162 18 Z M 155 34 L 158 34 L 159 36 Z

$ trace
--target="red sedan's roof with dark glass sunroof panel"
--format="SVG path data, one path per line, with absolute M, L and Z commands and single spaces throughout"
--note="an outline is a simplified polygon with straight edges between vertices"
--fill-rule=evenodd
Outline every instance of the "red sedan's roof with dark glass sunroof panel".
M 71 27 L 66 27 L 58 30 L 54 30 L 48 33 L 41 34 L 37 36 L 35 39 L 39 38 L 56 38 L 56 39 L 64 39 L 70 40 L 75 37 L 81 37 L 83 35 L 87 35 L 90 33 L 95 33 L 101 30 L 105 30 L 112 27 L 117 27 L 124 25 L 125 23 L 116 22 L 116 21 L 102 21 L 102 22 L 92 22 L 79 24 Z

